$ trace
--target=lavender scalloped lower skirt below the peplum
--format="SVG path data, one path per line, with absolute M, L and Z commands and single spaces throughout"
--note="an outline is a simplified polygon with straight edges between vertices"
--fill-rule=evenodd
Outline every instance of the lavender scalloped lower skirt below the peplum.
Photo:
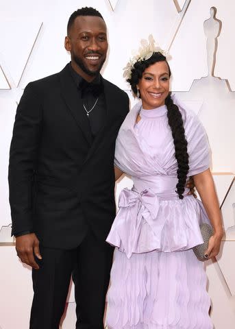
M 193 250 L 132 254 L 115 249 L 108 329 L 212 329 L 206 273 Z

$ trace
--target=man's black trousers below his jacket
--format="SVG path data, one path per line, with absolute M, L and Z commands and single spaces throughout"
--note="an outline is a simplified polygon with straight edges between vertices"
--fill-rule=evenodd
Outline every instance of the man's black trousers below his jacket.
M 58 329 L 71 273 L 75 284 L 76 329 L 103 329 L 113 247 L 88 230 L 72 250 L 40 246 L 40 269 L 32 270 L 34 300 L 30 329 Z

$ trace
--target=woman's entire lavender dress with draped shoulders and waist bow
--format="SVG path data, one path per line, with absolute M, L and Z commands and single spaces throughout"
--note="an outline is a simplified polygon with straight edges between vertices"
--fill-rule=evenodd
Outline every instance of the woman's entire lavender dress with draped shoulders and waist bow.
M 188 141 L 189 173 L 209 167 L 206 132 L 180 107 Z M 141 120 L 136 123 L 140 112 Z M 175 193 L 177 162 L 166 106 L 129 112 L 116 141 L 115 164 L 132 177 L 107 241 L 116 246 L 108 291 L 110 329 L 211 329 L 203 263 L 193 250 L 208 221 L 199 200 Z

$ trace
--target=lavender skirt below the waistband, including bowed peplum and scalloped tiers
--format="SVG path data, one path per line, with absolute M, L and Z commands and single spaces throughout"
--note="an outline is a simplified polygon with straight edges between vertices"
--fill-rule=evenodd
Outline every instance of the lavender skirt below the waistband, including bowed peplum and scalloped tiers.
M 202 243 L 205 215 L 193 197 L 161 200 L 125 189 L 107 241 L 116 246 L 106 324 L 109 329 L 212 329 Z M 153 220 L 155 219 L 155 220 Z

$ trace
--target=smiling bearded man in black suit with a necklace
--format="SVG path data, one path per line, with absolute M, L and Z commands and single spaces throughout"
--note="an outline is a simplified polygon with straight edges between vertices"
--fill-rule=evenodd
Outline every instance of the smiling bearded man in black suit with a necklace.
M 114 146 L 129 110 L 123 90 L 101 77 L 106 23 L 94 8 L 74 12 L 65 48 L 71 63 L 31 82 L 16 112 L 10 148 L 12 234 L 33 267 L 31 329 L 58 329 L 71 273 L 76 328 L 103 328 L 115 216 Z

